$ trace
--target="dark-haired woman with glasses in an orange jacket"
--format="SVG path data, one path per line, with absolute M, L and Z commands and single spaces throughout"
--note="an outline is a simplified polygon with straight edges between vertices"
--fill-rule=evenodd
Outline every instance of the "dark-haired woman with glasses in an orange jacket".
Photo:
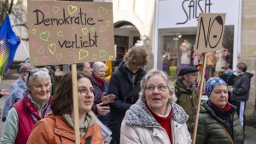
M 94 101 L 93 81 L 84 72 L 77 72 L 80 143 L 103 144 L 102 132 L 91 111 Z M 68 72 L 57 85 L 49 115 L 36 124 L 29 144 L 75 143 L 72 73 Z

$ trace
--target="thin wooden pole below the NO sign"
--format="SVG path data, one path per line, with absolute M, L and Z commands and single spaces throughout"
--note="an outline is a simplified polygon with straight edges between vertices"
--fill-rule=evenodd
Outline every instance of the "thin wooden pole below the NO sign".
M 201 94 L 202 94 L 202 89 L 203 89 L 203 82 L 204 82 L 204 76 L 206 72 L 206 65 L 207 65 L 207 53 L 204 53 L 204 58 L 203 58 L 203 67 L 202 67 L 202 72 L 201 72 L 201 78 L 200 78 L 200 89 L 199 89 L 199 95 L 198 95 L 198 101 L 197 101 L 197 108 L 196 108 L 196 113 L 195 113 L 195 125 L 194 125 L 194 130 L 193 130 L 193 138 L 192 138 L 192 144 L 195 144 L 196 140 L 196 132 L 197 132 L 197 125 L 198 125 L 198 118 L 199 118 L 199 112 L 200 112 L 200 106 L 201 106 Z

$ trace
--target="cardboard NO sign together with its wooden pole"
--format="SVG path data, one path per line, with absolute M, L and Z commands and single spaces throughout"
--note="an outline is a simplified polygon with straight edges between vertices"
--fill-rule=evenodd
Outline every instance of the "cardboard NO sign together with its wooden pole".
M 201 106 L 201 95 L 203 82 L 206 72 L 207 52 L 213 52 L 222 49 L 222 40 L 224 36 L 225 14 L 199 14 L 197 34 L 195 38 L 195 54 L 203 55 L 203 67 L 200 73 L 199 95 L 195 113 L 195 125 L 193 130 L 192 144 L 195 144 L 198 126 L 198 118 Z

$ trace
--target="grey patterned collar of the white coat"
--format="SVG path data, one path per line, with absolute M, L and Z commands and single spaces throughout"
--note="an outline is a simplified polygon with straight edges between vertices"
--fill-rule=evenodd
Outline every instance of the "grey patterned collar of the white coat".
M 187 122 L 189 116 L 184 112 L 183 108 L 178 106 L 176 103 L 171 104 L 172 107 L 172 118 L 178 124 L 184 124 Z M 153 115 L 148 111 L 145 106 L 145 98 L 142 96 L 139 100 L 131 106 L 125 113 L 124 118 L 125 124 L 138 127 L 156 127 L 160 124 L 155 120 Z

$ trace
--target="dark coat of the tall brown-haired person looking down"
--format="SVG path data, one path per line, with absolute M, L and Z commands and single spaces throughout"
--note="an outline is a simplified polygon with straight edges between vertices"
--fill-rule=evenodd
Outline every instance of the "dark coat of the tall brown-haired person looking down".
M 125 117 L 125 112 L 132 105 L 132 103 L 125 102 L 125 99 L 130 99 L 131 97 L 138 98 L 138 93 L 141 90 L 140 81 L 145 74 L 146 72 L 143 69 L 139 69 L 137 71 L 137 77 L 133 83 L 131 81 L 131 76 L 129 75 L 128 69 L 125 66 L 125 62 L 122 62 L 119 65 L 119 68 L 113 72 L 108 84 L 108 95 L 113 94 L 116 96 L 115 101 L 109 104 L 109 127 L 113 132 L 113 137 L 119 138 L 120 127 L 122 120 Z M 135 102 L 136 101 L 134 101 L 134 103 Z

